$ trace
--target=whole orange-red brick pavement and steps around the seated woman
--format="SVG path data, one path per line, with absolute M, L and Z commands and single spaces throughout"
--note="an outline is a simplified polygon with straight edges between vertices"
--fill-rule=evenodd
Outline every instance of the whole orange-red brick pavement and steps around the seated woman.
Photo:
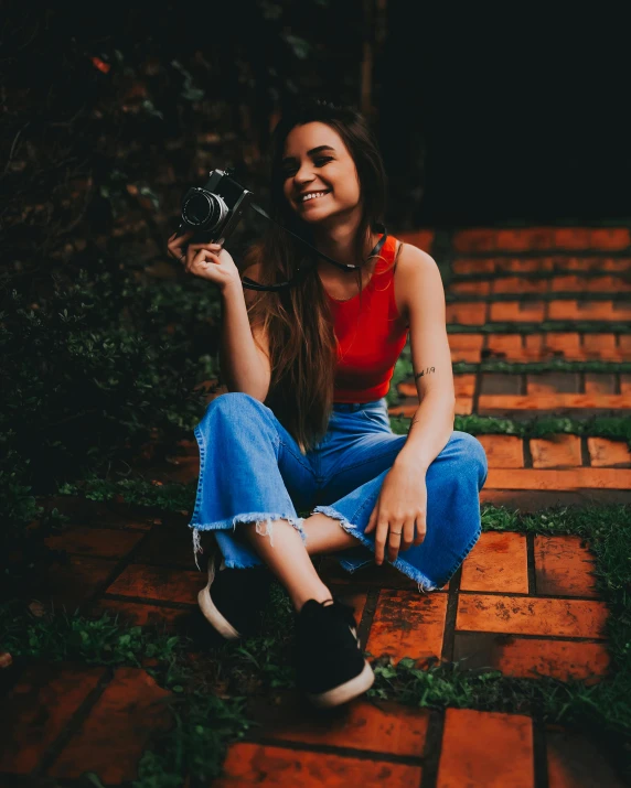
M 430 239 L 428 233 L 410 238 L 425 248 Z M 451 249 L 450 323 L 617 323 L 631 315 L 631 300 L 620 300 L 631 291 L 627 228 L 466 230 L 451 237 Z M 607 298 L 589 300 L 595 292 Z M 553 298 L 537 301 L 539 294 Z M 631 335 L 621 332 L 473 331 L 450 334 L 450 346 L 454 361 L 631 360 Z M 631 375 L 616 370 L 477 371 L 456 376 L 456 388 L 461 414 L 581 417 L 631 407 Z M 399 391 L 404 400 L 392 414 L 409 414 L 416 407 L 411 381 Z M 598 500 L 602 494 L 628 500 L 625 442 L 571 434 L 480 440 L 490 467 L 483 501 L 532 510 L 562 500 Z M 170 469 L 171 478 L 196 475 L 194 445 L 183 447 L 188 454 Z M 186 519 L 124 516 L 101 507 L 94 521 L 75 521 L 50 539 L 51 547 L 67 551 L 67 562 L 50 573 L 40 596 L 94 615 L 118 613 L 140 625 L 185 627 L 201 584 Z M 428 659 L 461 660 L 467 668 L 511 677 L 587 683 L 609 669 L 607 609 L 592 568 L 576 537 L 511 532 L 484 533 L 448 586 L 427 596 L 392 568 L 347 575 L 330 560 L 321 564 L 331 587 L 354 606 L 373 657 L 388 655 L 395 663 L 410 657 L 419 666 Z M 2 735 L 10 746 L 0 776 L 72 780 L 95 771 L 108 785 L 133 779 L 150 735 L 168 727 L 161 705 L 167 694 L 139 668 L 60 663 L 26 670 L 7 705 Z M 221 786 L 622 785 L 589 741 L 536 716 L 428 711 L 365 699 L 322 713 L 291 692 L 253 708 L 260 727 L 229 748 Z

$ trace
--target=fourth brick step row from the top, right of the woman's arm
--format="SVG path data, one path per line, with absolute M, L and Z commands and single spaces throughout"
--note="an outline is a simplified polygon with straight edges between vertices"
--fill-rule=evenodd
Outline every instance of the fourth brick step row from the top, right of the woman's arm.
M 631 303 L 619 301 L 458 301 L 447 304 L 447 323 L 543 323 L 544 321 L 631 321 Z

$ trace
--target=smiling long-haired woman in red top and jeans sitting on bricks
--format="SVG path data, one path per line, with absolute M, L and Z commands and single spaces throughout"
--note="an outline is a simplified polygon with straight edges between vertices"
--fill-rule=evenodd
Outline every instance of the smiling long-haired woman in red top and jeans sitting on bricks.
M 226 249 L 170 239 L 170 253 L 217 285 L 224 306 L 229 393 L 195 429 L 190 527 L 196 552 L 200 531 L 214 535 L 200 593 L 211 625 L 225 638 L 247 635 L 269 568 L 297 612 L 297 683 L 317 705 L 333 706 L 374 676 L 352 611 L 332 598 L 311 557 L 334 553 L 352 572 L 374 553 L 420 591 L 442 586 L 479 537 L 486 458 L 479 441 L 452 429 L 435 261 L 388 236 L 378 250 L 385 175 L 362 117 L 321 102 L 285 116 L 274 134 L 271 202 L 280 224 L 357 266 L 356 277 L 272 225 L 244 273 L 269 284 L 299 267 L 309 272 L 280 294 L 244 290 Z M 385 395 L 408 333 L 420 407 L 408 435 L 395 435 Z

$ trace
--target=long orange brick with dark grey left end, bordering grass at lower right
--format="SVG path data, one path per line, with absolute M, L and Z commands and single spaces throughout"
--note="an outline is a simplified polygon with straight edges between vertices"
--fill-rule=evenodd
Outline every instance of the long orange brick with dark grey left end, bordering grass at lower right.
M 493 633 L 456 633 L 453 660 L 467 670 L 500 670 L 504 676 L 596 683 L 607 673 L 609 654 L 603 643 L 546 640 Z

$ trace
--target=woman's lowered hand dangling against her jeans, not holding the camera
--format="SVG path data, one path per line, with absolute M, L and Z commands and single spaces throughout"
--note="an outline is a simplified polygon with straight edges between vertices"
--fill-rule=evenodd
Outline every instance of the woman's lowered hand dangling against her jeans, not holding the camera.
M 425 539 L 427 485 L 425 472 L 393 465 L 364 533 L 375 531 L 375 563 L 381 565 L 387 546 L 388 561 Z

